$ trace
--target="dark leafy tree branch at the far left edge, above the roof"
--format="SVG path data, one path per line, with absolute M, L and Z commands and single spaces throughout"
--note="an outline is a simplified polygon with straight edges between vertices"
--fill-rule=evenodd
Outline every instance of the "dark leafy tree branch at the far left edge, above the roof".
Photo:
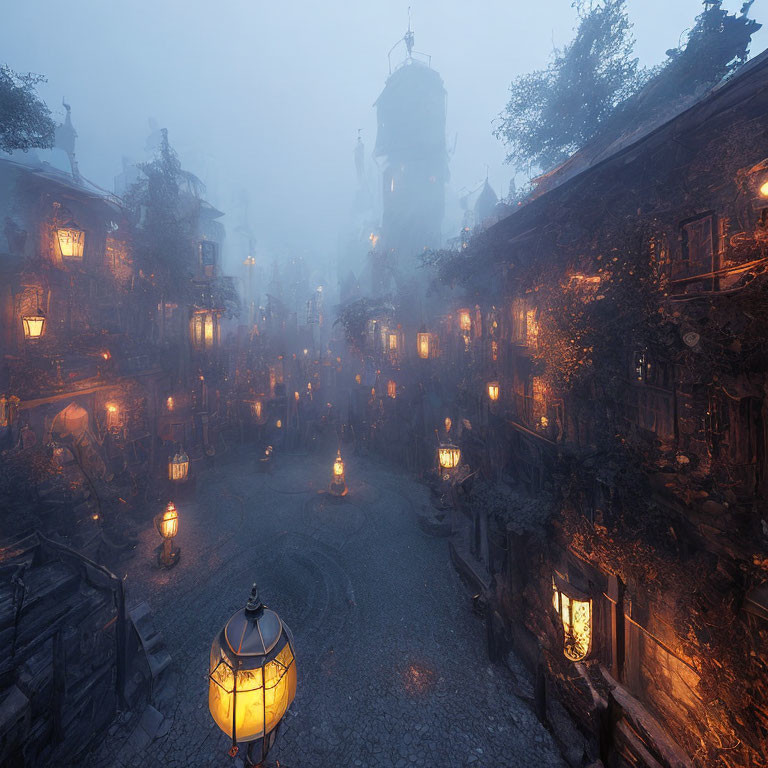
M 0 66 L 0 150 L 25 152 L 53 146 L 56 127 L 51 112 L 35 93 L 41 75 L 20 74 Z

